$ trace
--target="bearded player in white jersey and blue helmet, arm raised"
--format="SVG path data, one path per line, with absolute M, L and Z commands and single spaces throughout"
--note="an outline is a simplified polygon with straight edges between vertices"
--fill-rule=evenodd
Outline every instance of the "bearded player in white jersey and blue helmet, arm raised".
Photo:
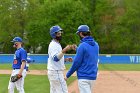
M 65 69 L 64 54 L 75 46 L 67 45 L 62 49 L 60 44 L 62 29 L 60 26 L 51 27 L 50 35 L 53 38 L 48 47 L 49 58 L 47 65 L 50 93 L 68 93 L 67 84 L 63 75 Z

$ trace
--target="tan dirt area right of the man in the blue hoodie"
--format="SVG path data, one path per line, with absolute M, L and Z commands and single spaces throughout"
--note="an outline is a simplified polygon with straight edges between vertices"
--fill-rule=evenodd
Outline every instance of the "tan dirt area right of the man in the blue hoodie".
M 139 71 L 101 71 L 94 93 L 140 93 Z

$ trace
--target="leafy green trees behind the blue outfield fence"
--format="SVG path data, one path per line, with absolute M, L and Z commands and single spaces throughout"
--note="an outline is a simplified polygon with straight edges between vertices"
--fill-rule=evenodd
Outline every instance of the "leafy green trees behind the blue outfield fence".
M 0 52 L 14 53 L 10 41 L 20 36 L 28 51 L 47 53 L 53 25 L 64 30 L 62 47 L 78 45 L 77 28 L 87 24 L 100 53 L 140 53 L 139 5 L 139 0 L 0 0 Z

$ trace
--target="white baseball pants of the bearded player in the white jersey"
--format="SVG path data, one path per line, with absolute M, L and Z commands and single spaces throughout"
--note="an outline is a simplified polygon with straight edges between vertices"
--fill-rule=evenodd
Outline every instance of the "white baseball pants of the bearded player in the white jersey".
M 68 93 L 63 71 L 48 70 L 48 78 L 50 81 L 50 93 Z

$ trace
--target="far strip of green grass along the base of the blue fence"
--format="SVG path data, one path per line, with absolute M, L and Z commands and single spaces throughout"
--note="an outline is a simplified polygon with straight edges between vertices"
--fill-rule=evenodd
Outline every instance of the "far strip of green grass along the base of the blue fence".
M 71 64 L 66 64 L 68 70 Z M 11 64 L 0 64 L 0 69 L 12 69 Z M 47 64 L 30 64 L 30 70 L 45 70 Z M 99 70 L 115 70 L 115 71 L 140 71 L 140 64 L 99 64 Z

